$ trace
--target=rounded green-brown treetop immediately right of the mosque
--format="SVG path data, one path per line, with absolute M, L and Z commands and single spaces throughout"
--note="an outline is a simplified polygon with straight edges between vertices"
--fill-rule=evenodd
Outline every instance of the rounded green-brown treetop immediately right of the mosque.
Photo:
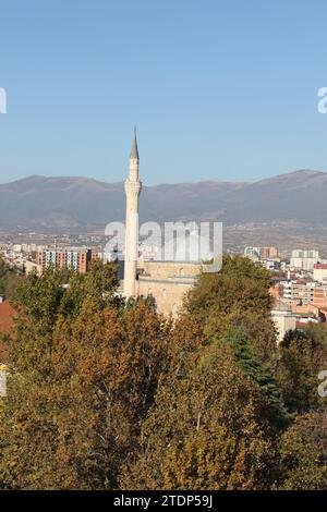
M 207 338 L 222 339 L 231 326 L 242 327 L 261 361 L 272 361 L 276 334 L 269 288 L 267 270 L 241 256 L 223 256 L 221 271 L 202 273 L 184 306 Z

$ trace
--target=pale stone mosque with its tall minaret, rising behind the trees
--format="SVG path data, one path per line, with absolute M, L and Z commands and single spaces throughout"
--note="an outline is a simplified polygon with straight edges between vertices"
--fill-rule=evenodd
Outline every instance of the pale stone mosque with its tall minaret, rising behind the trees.
M 123 294 L 126 298 L 136 296 L 154 297 L 157 310 L 165 315 L 175 316 L 182 306 L 185 293 L 195 284 L 201 273 L 202 260 L 192 256 L 192 251 L 184 251 L 185 237 L 174 247 L 172 260 L 145 260 L 138 254 L 138 206 L 142 191 L 142 182 L 138 178 L 140 155 L 136 131 L 130 155 L 130 172 L 124 188 L 126 195 L 125 217 L 125 259 Z M 191 233 L 192 242 L 197 234 Z M 171 242 L 170 242 L 171 243 Z M 190 247 L 190 243 L 189 243 Z M 185 254 L 184 260 L 180 260 L 178 253 Z M 211 255 L 208 251 L 209 259 Z

